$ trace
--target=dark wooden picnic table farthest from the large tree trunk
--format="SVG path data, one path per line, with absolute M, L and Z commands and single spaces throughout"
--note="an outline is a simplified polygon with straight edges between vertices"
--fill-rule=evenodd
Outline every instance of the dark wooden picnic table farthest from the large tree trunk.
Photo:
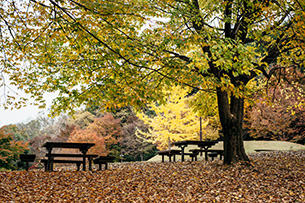
M 82 164 L 83 164 L 83 171 L 86 170 L 86 158 L 91 157 L 87 156 L 87 151 L 93 147 L 94 143 L 77 143 L 77 142 L 46 142 L 42 145 L 42 147 L 45 147 L 47 149 L 46 156 L 48 157 L 47 163 L 46 163 L 46 170 L 50 171 L 53 169 L 53 160 L 54 157 L 82 157 Z M 79 149 L 79 151 L 82 153 L 80 155 L 75 154 L 52 154 L 53 148 L 69 148 L 69 149 Z M 97 156 L 97 155 L 96 155 Z M 90 161 L 90 160 L 89 160 Z M 89 163 L 89 166 L 91 164 Z

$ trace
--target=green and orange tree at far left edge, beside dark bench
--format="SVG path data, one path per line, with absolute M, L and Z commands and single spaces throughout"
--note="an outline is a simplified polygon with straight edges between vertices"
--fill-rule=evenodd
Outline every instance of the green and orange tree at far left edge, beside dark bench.
M 13 134 L 7 133 L 6 126 L 0 128 L 0 168 L 16 169 L 19 154 L 28 150 L 28 144 L 15 141 Z

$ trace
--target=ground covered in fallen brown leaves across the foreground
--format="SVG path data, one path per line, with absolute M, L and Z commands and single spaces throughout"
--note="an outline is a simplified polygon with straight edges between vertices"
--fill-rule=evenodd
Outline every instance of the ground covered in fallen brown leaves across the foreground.
M 250 157 L 251 167 L 216 160 L 0 172 L 0 202 L 305 202 L 305 151 Z

